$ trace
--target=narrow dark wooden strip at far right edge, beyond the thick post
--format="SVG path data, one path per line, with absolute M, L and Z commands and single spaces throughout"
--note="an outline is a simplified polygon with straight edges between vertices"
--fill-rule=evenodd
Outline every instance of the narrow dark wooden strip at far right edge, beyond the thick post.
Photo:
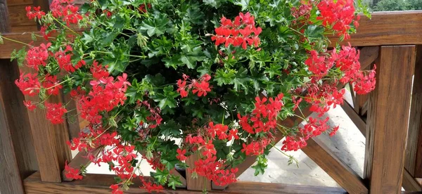
M 422 177 L 422 46 L 418 46 L 416 49 L 404 167 L 411 176 Z

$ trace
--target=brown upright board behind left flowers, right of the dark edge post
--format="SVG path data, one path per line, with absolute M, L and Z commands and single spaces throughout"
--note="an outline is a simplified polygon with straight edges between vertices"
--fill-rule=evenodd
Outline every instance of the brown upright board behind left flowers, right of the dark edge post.
M 23 72 L 33 73 L 30 67 L 20 67 Z M 38 96 L 25 96 L 25 100 L 39 102 Z M 61 94 L 50 96 L 49 103 L 63 102 Z M 66 145 L 69 140 L 67 124 L 51 124 L 46 119 L 46 110 L 27 111 L 30 119 L 34 148 L 37 153 L 39 172 L 43 181 L 60 182 L 65 161 L 70 161 L 72 155 Z

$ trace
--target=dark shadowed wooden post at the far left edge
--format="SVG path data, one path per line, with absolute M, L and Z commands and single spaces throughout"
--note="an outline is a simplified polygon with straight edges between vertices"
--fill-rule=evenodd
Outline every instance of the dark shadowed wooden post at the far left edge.
M 0 32 L 9 32 L 8 9 L 0 0 Z M 22 179 L 37 171 L 23 95 L 15 86 L 18 65 L 0 60 L 0 193 L 24 193 Z

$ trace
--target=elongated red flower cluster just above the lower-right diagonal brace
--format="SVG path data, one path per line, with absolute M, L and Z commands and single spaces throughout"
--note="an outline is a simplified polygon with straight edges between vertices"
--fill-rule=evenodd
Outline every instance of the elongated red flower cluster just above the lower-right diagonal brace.
M 281 150 L 296 151 L 305 147 L 307 145 L 306 141 L 309 138 L 319 136 L 329 128 L 327 125 L 328 119 L 329 117 L 326 117 L 326 119 L 314 119 L 313 117 L 309 117 L 307 124 L 299 129 L 299 133 L 296 136 L 286 136 Z M 337 130 L 338 127 L 334 127 L 330 136 L 333 136 Z

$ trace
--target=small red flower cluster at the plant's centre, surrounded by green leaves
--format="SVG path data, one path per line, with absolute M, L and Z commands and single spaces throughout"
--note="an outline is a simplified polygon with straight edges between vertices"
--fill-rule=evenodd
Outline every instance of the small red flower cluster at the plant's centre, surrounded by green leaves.
M 179 87 L 177 92 L 180 93 L 181 98 L 188 96 L 189 90 L 192 90 L 193 94 L 197 93 L 199 97 L 207 96 L 207 92 L 211 91 L 210 83 L 208 83 L 211 79 L 210 75 L 205 74 L 198 80 L 192 79 L 191 82 L 186 82 L 188 78 L 187 75 L 183 75 L 183 81 L 181 79 L 177 80 L 177 86 Z M 189 84 L 186 86 L 186 83 Z

